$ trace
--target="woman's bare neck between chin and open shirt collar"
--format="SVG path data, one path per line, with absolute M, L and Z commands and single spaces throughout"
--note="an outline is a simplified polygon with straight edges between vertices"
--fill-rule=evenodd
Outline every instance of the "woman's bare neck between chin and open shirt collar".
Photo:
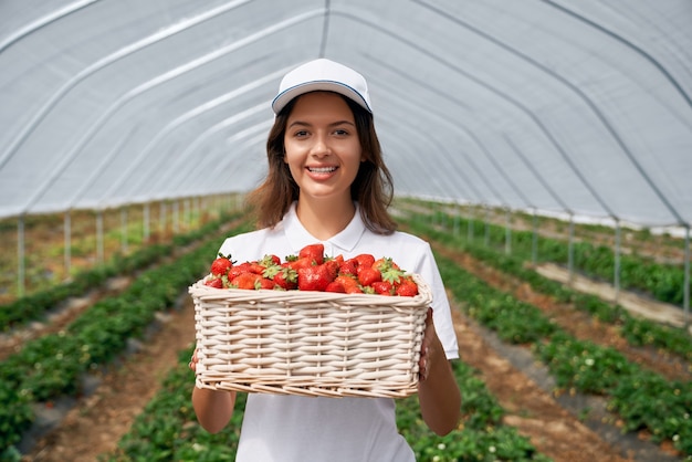
M 356 213 L 350 198 L 338 202 L 332 200 L 308 200 L 298 197 L 296 214 L 305 229 L 321 241 L 342 232 Z

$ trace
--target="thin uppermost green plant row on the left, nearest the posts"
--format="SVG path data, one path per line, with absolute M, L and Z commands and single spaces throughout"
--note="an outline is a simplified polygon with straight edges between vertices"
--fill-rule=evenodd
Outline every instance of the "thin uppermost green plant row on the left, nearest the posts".
M 228 220 L 229 218 L 224 218 Z M 49 309 L 70 297 L 82 296 L 91 290 L 102 287 L 108 279 L 119 275 L 130 275 L 150 266 L 162 258 L 198 241 L 209 231 L 217 229 L 219 222 L 210 222 L 199 230 L 174 237 L 170 244 L 150 244 L 138 249 L 129 255 L 116 254 L 113 260 L 90 270 L 81 271 L 72 281 L 40 290 L 30 295 L 0 306 L 0 332 L 7 332 L 28 322 L 39 319 Z

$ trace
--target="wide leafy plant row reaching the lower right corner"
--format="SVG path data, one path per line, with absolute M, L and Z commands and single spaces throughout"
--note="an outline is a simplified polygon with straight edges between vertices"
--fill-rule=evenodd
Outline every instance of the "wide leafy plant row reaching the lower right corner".
M 464 312 L 504 342 L 531 344 L 558 387 L 604 396 L 623 431 L 647 429 L 652 440 L 672 441 L 692 455 L 692 387 L 641 369 L 619 351 L 579 340 L 537 307 L 495 290 L 454 262 L 438 258 L 442 279 Z

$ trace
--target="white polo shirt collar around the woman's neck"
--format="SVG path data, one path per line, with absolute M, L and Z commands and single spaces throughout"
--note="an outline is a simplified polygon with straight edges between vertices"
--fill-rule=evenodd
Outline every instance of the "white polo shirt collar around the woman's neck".
M 293 202 L 284 216 L 283 228 L 291 246 L 297 254 L 297 251 L 305 245 L 314 244 L 315 242 L 321 241 L 303 227 L 303 223 L 298 220 L 295 211 L 296 204 L 297 202 Z M 366 231 L 366 227 L 363 222 L 363 218 L 360 218 L 360 208 L 358 203 L 356 202 L 355 206 L 356 213 L 354 213 L 354 218 L 350 220 L 348 225 L 327 241 L 322 241 L 325 244 L 326 254 L 336 255 L 340 252 L 352 252 L 360 241 L 363 233 Z

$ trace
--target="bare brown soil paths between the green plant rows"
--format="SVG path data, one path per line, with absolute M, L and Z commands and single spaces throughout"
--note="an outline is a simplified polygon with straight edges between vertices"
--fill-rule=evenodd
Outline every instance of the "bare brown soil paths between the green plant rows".
M 689 364 L 661 356 L 659 351 L 631 348 L 612 326 L 560 306 L 551 297 L 534 293 L 527 284 L 489 269 L 469 255 L 448 253 L 447 256 L 454 258 L 489 283 L 541 307 L 575 336 L 614 346 L 630 359 L 665 377 L 690 380 L 692 369 Z M 118 284 L 127 284 L 127 281 L 120 280 Z M 597 291 L 596 285 L 593 290 Z M 97 296 L 99 294 L 91 294 L 90 301 Z M 134 417 L 156 393 L 162 377 L 170 368 L 180 367 L 178 351 L 193 340 L 193 306 L 189 297 L 184 300 L 180 307 L 171 308 L 159 319 L 158 332 L 104 375 L 93 393 L 80 399 L 53 431 L 38 440 L 24 460 L 94 461 L 98 454 L 115 448 Z M 87 304 L 75 302 L 62 316 L 70 318 L 78 313 L 80 306 Z M 679 460 L 667 445 L 649 443 L 646 433 L 621 435 L 617 419 L 608 416 L 597 399 L 555 393 L 548 374 L 531 359 L 526 348 L 504 345 L 492 333 L 463 316 L 458 306 L 453 312 L 462 359 L 480 370 L 490 391 L 507 410 L 506 423 L 531 438 L 544 454 L 556 462 Z M 61 319 L 61 315 L 56 314 L 54 319 Z M 0 345 L 0 355 L 17 348 L 19 339 L 25 340 L 45 329 L 49 327 L 34 326 L 6 337 Z M 580 414 L 585 403 L 590 409 L 588 416 Z

